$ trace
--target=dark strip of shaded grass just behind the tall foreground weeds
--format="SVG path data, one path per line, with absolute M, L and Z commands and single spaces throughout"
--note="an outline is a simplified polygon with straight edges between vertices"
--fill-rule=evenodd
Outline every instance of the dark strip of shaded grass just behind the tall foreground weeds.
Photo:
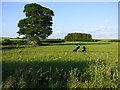
M 91 61 L 93 62 L 93 61 Z M 42 68 L 43 70 L 49 70 L 52 68 L 53 70 L 63 69 L 65 71 L 69 71 L 73 68 L 77 68 L 82 72 L 85 69 L 89 68 L 90 61 L 15 61 L 15 62 L 2 62 L 2 70 L 3 70 L 3 80 L 15 73 L 15 71 L 19 68 L 26 69 L 26 68 L 34 68 L 38 70 Z

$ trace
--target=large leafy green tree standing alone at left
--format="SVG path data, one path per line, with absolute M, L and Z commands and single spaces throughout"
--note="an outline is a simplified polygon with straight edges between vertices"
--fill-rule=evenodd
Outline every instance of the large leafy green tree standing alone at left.
M 52 34 L 51 26 L 54 12 L 36 3 L 25 5 L 23 12 L 26 18 L 19 21 L 19 31 L 17 33 L 25 35 L 25 37 L 41 45 L 40 40 Z

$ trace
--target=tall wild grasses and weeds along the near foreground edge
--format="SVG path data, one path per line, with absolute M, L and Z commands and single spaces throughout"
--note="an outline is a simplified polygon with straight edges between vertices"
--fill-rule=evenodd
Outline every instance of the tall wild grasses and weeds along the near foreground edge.
M 22 64 L 21 64 L 22 65 Z M 119 84 L 118 67 L 106 64 L 103 60 L 88 63 L 89 68 L 69 71 L 59 68 L 45 70 L 40 65 L 19 67 L 12 77 L 3 81 L 3 88 L 113 88 Z M 21 73 L 22 72 L 22 73 Z

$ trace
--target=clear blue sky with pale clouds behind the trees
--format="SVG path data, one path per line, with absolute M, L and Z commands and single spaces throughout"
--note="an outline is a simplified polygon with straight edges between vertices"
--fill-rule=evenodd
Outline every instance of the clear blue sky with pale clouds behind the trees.
M 25 2 L 2 2 L 2 36 L 17 37 L 17 23 L 25 18 Z M 83 32 L 93 38 L 118 38 L 117 2 L 38 2 L 54 11 L 53 34 L 64 38 L 67 33 Z M 0 36 L 1 37 L 1 36 Z

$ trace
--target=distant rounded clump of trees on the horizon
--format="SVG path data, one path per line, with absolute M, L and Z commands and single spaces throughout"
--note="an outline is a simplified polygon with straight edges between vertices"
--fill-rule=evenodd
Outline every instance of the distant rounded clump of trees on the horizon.
M 86 33 L 68 33 L 64 39 L 66 41 L 90 41 L 92 40 L 92 35 Z

